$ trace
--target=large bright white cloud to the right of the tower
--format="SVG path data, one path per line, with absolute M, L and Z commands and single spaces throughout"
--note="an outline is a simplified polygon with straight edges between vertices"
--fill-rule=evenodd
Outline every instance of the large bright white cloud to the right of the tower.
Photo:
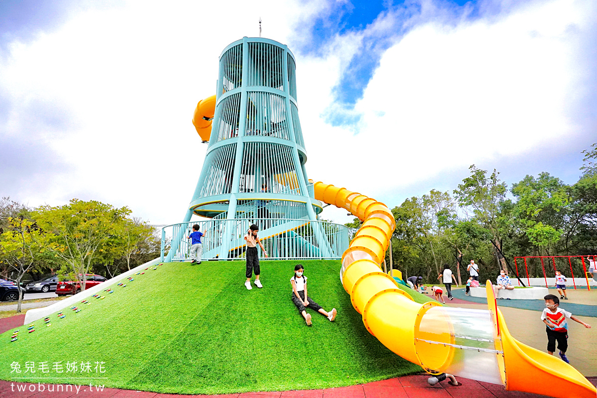
M 586 59 L 596 11 L 595 2 L 549 1 L 476 21 L 419 21 L 385 51 L 356 103 L 358 134 L 301 113 L 310 176 L 398 205 L 401 187 L 417 181 L 567 146 L 590 128 L 579 93 L 597 72 Z

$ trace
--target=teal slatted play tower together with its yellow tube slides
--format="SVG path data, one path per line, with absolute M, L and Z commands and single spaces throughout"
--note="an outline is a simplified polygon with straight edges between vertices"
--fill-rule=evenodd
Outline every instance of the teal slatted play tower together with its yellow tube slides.
M 187 258 L 192 214 L 211 218 L 199 223 L 211 241 L 204 258 L 242 257 L 242 235 L 250 223 L 260 224 L 260 235 L 270 239 L 267 251 L 278 249 L 270 252 L 274 258 L 343 253 L 340 280 L 367 330 L 437 380 L 448 374 L 507 390 L 594 397 L 595 387 L 572 366 L 512 338 L 489 280 L 488 309 L 471 310 L 415 303 L 399 288 L 404 281 L 382 271 L 395 229 L 390 209 L 345 188 L 307 180 L 294 65 L 290 50 L 269 39 L 243 38 L 224 49 L 216 100 L 200 101 L 193 117 L 209 147 L 184 222 L 170 226 L 166 261 Z M 266 192 L 260 192 L 263 183 Z M 343 226 L 318 220 L 322 202 L 362 221 L 352 242 Z M 164 242 L 162 229 L 162 261 Z

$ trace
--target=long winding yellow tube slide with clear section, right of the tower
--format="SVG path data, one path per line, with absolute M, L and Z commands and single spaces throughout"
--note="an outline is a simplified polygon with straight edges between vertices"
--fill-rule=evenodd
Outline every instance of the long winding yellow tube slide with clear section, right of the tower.
M 512 338 L 494 308 L 490 281 L 488 310 L 415 303 L 380 268 L 396 227 L 390 209 L 346 188 L 321 182 L 314 188 L 315 199 L 363 221 L 342 256 L 340 280 L 367 330 L 387 348 L 430 374 L 446 372 L 553 397 L 562 391 L 596 396 L 595 387 L 572 366 Z

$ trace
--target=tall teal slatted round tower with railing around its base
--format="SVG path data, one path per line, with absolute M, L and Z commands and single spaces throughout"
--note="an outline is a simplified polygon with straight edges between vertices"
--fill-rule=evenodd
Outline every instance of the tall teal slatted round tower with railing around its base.
M 293 53 L 279 42 L 245 37 L 224 48 L 219 66 L 211 132 L 199 133 L 208 141 L 205 162 L 183 222 L 162 229 L 162 259 L 168 229 L 165 261 L 189 258 L 193 224 L 206 235 L 204 260 L 244 257 L 251 224 L 259 226 L 270 258 L 340 258 L 347 227 L 319 220 L 322 203 L 307 178 Z M 202 218 L 191 222 L 193 214 Z

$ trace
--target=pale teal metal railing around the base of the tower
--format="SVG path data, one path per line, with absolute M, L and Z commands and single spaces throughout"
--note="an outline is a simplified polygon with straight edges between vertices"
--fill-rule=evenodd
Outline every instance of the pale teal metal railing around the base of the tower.
M 229 260 L 245 257 L 244 240 L 251 224 L 259 226 L 258 236 L 269 258 L 293 260 L 312 258 L 341 258 L 348 248 L 348 228 L 341 224 L 307 219 L 254 218 L 236 220 L 205 220 L 173 224 L 162 228 L 162 248 L 167 229 L 172 229 L 171 261 L 190 260 L 192 226 L 198 224 L 204 233 L 202 260 Z M 260 251 L 260 257 L 264 254 Z M 165 253 L 162 249 L 161 259 Z

